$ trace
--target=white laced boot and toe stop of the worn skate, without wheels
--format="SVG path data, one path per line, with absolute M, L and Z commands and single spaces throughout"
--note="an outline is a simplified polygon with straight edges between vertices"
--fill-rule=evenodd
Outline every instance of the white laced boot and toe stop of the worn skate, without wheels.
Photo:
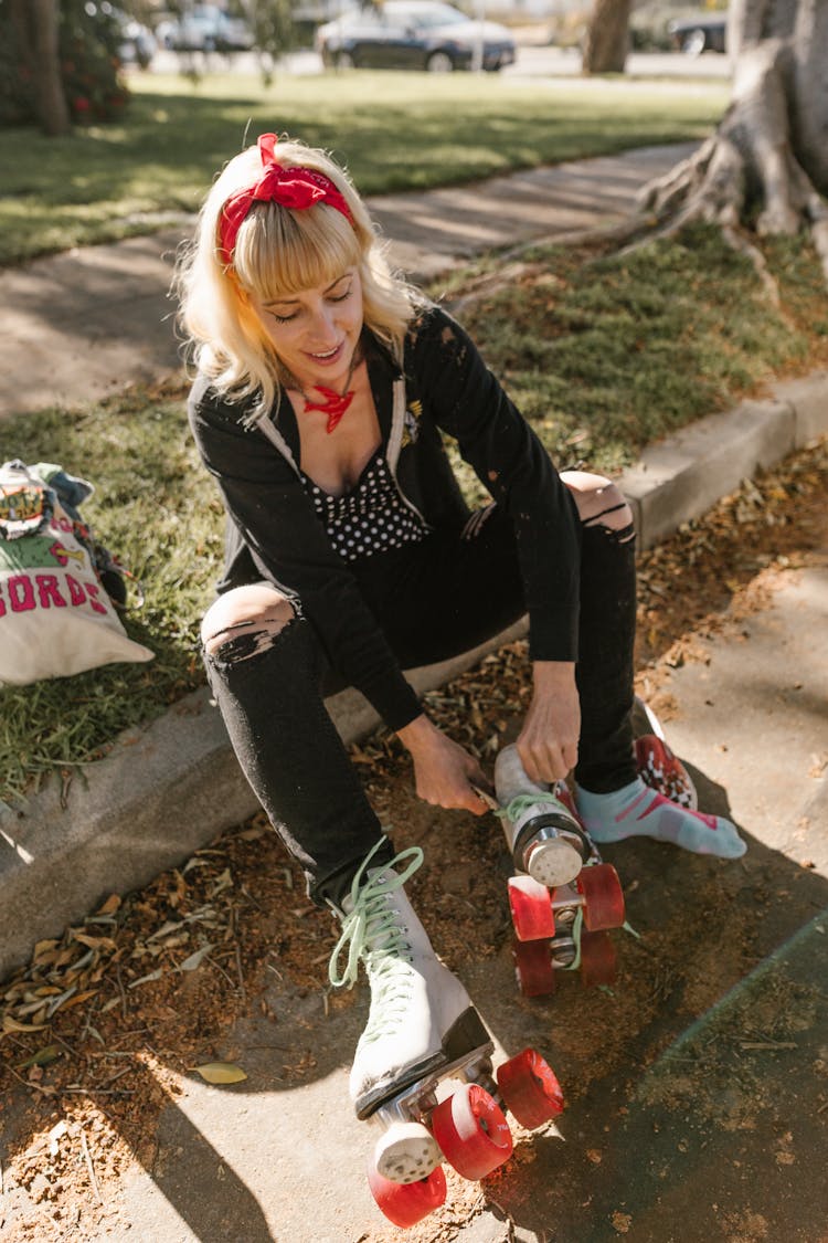
M 421 1080 L 473 1059 L 490 1048 L 489 1035 L 466 988 L 437 958 L 403 885 L 422 864 L 422 850 L 402 850 L 394 864 L 371 868 L 379 845 L 354 878 L 339 912 L 343 933 L 330 960 L 334 986 L 353 987 L 360 961 L 371 988 L 367 1024 L 356 1045 L 350 1094 L 356 1116 L 370 1117 Z M 348 952 L 345 968 L 339 961 Z M 377 1141 L 376 1170 L 394 1182 L 422 1180 L 439 1165 L 441 1151 L 417 1111 L 394 1115 Z

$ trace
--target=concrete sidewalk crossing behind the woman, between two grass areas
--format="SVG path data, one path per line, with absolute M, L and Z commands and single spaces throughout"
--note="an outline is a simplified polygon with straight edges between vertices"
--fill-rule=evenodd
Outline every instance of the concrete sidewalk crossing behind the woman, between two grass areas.
M 415 281 L 488 247 L 613 224 L 693 145 L 530 169 L 470 186 L 369 199 L 391 256 Z M 73 405 L 179 367 L 175 252 L 191 221 L 0 272 L 0 419 Z M 9 455 L 6 455 L 9 456 Z

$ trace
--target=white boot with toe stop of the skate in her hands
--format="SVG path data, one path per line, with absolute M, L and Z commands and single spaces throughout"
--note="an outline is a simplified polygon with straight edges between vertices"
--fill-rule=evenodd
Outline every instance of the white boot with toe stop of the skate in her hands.
M 571 884 L 590 858 L 590 842 L 565 802 L 560 784 L 533 782 L 518 748 L 504 747 L 494 766 L 498 802 L 505 810 L 503 832 L 515 868 L 533 880 L 556 889 Z

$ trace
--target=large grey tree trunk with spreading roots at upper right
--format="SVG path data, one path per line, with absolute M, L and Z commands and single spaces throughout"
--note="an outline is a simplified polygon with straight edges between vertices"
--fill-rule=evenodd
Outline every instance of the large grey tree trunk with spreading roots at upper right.
M 828 0 L 734 0 L 730 107 L 713 138 L 644 190 L 663 231 L 718 221 L 734 239 L 809 229 L 828 278 Z

